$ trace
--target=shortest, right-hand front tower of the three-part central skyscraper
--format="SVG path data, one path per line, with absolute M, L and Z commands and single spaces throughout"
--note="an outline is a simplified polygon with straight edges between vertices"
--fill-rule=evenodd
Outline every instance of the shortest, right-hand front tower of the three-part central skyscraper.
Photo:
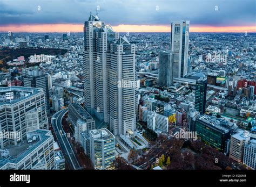
M 109 68 L 110 130 L 114 135 L 135 130 L 135 45 L 126 37 L 111 44 Z

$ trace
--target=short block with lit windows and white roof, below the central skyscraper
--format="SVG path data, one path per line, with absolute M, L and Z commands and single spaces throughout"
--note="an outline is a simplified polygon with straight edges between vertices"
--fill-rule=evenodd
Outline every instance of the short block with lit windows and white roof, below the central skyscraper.
M 95 169 L 114 169 L 114 135 L 102 128 L 90 131 L 90 157 Z

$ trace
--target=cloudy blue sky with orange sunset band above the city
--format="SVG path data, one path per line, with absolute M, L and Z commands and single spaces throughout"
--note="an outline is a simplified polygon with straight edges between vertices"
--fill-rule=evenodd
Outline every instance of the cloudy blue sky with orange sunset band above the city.
M 83 32 L 98 9 L 116 32 L 170 32 L 190 20 L 190 32 L 256 32 L 255 0 L 0 0 L 0 32 Z

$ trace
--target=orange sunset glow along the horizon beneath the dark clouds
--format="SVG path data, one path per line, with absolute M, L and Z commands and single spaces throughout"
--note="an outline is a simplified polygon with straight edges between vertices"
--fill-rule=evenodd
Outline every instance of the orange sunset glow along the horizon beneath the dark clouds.
M 170 32 L 170 25 L 118 25 L 116 32 Z M 83 24 L 35 24 L 0 26 L 0 32 L 83 32 Z M 256 26 L 190 26 L 190 32 L 256 32 Z

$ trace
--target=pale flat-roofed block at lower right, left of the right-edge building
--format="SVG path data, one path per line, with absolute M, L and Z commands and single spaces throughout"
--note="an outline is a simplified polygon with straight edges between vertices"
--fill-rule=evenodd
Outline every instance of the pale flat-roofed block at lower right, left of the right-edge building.
M 250 132 L 241 131 L 231 136 L 230 143 L 230 158 L 242 162 L 242 157 L 244 155 L 244 148 L 250 141 Z

